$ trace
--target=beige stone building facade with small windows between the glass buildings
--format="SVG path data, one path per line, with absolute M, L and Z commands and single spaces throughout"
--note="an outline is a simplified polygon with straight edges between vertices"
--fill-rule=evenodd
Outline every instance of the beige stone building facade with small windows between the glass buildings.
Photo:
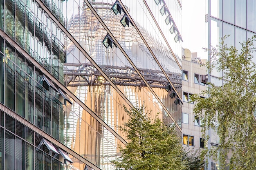
M 206 89 L 202 83 L 202 75 L 207 74 L 206 66 L 201 66 L 206 60 L 197 57 L 197 53 L 191 53 L 189 49 L 184 49 L 182 59 L 182 144 L 196 149 L 204 147 L 202 138 L 200 117 L 193 113 L 194 104 L 190 100 L 193 94 L 200 94 Z M 204 97 L 204 96 L 202 96 Z

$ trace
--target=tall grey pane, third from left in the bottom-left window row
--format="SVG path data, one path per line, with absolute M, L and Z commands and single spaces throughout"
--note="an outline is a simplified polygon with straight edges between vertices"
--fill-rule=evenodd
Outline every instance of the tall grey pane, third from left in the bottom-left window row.
M 25 141 L 16 137 L 15 140 L 16 170 L 25 170 Z

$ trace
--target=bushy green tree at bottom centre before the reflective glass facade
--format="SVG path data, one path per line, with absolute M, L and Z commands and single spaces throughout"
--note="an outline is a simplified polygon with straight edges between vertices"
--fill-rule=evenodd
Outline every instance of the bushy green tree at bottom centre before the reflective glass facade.
M 130 119 L 118 126 L 127 137 L 125 148 L 119 146 L 121 157 L 112 161 L 117 170 L 185 170 L 188 157 L 181 138 L 173 126 L 165 126 L 159 118 L 151 119 L 144 106 L 124 106 Z M 189 154 L 188 154 L 189 155 Z

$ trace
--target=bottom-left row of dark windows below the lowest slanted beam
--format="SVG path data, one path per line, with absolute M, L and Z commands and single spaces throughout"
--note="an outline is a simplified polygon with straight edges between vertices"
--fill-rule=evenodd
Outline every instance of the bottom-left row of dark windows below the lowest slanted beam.
M 1 170 L 64 170 L 73 161 L 66 152 L 0 110 Z

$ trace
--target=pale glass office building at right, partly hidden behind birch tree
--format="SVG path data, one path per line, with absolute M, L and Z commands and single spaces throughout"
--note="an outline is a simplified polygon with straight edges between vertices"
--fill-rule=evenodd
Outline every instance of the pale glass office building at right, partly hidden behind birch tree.
M 256 1 L 254 0 L 208 0 L 208 48 L 216 46 L 220 38 L 229 35 L 225 39 L 228 46 L 236 46 L 241 49 L 240 42 L 246 41 L 256 35 Z M 256 56 L 256 53 L 254 54 Z M 209 58 L 210 59 L 210 58 Z M 256 58 L 254 58 L 256 62 Z M 218 85 L 223 85 L 221 72 L 214 71 L 209 76 L 209 81 Z M 215 131 L 211 130 L 210 146 L 218 146 L 219 137 Z M 209 161 L 210 162 L 210 161 Z M 218 169 L 218 161 L 211 160 L 208 169 Z

